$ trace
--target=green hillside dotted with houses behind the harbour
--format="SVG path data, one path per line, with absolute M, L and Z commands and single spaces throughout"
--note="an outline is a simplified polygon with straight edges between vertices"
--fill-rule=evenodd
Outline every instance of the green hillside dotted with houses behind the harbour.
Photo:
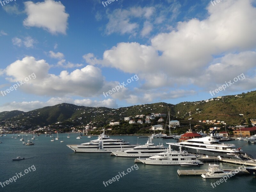
M 238 125 L 246 123 L 248 118 L 256 118 L 255 109 L 256 91 L 252 91 L 237 96 L 228 95 L 211 100 L 182 102 L 177 105 L 160 102 L 117 109 L 84 107 L 62 103 L 29 112 L 4 111 L 0 113 L 0 120 L 4 121 L 2 125 L 5 126 L 9 124 L 46 126 L 56 122 L 65 122 L 65 124 L 73 126 L 89 122 L 97 122 L 103 125 L 111 120 L 123 120 L 126 116 L 135 117 L 136 115 L 148 115 L 151 113 L 167 114 L 170 111 L 171 120 L 188 120 L 188 118 L 192 118 L 193 121 L 217 119 L 230 125 Z

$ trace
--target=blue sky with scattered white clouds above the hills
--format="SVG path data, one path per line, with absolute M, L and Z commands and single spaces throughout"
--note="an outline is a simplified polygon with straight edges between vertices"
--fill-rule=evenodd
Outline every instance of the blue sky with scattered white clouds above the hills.
M 256 90 L 255 0 L 7 2 L 0 112 L 177 104 Z

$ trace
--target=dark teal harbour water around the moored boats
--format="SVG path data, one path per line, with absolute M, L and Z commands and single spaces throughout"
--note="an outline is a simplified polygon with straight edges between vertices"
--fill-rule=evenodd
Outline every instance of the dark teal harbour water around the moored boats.
M 12 135 L 2 137 L 0 143 L 0 181 L 9 180 L 16 173 L 24 174 L 24 170 L 30 167 L 30 172 L 23 175 L 16 182 L 9 183 L 4 188 L 0 185 L 0 192 L 25 192 L 25 191 L 202 191 L 202 192 L 229 192 L 229 191 L 255 191 L 256 178 L 251 175 L 235 176 L 212 188 L 219 179 L 204 180 L 201 176 L 179 176 L 178 169 L 206 169 L 207 164 L 200 167 L 180 167 L 179 165 L 134 165 L 134 158 L 110 156 L 109 153 L 74 153 L 66 144 L 80 144 L 97 137 L 84 137 L 76 139 L 77 134 L 59 134 L 60 139 L 51 142 L 51 138 L 40 135 L 36 137 L 34 146 L 25 146 L 18 139 L 11 138 Z M 60 143 L 63 136 L 63 143 Z M 24 136 L 25 137 L 25 136 Z M 27 137 L 26 137 L 27 138 Z M 130 143 L 144 144 L 147 138 L 138 139 L 136 136 L 111 136 L 111 138 L 123 138 Z M 163 142 L 175 142 L 175 140 L 154 139 L 155 144 Z M 256 157 L 256 145 L 245 141 L 228 141 L 236 147 L 242 147 L 243 152 L 250 153 Z M 25 160 L 12 161 L 16 156 L 25 157 Z M 238 165 L 219 163 L 220 168 L 237 168 Z M 33 166 L 36 168 L 32 170 Z M 128 168 L 133 171 L 120 177 L 119 181 L 103 185 L 103 181 L 111 180 L 118 172 L 126 173 Z M 137 168 L 137 170 L 136 170 Z M 130 170 L 128 170 L 130 171 Z M 123 174 L 121 174 L 123 175 Z M 117 177 L 118 178 L 118 177 Z

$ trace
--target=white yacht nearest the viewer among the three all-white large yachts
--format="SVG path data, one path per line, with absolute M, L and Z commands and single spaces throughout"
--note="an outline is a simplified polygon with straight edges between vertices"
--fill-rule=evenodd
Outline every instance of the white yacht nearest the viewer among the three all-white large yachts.
M 195 155 L 186 153 L 186 151 L 172 151 L 171 146 L 169 146 L 167 152 L 158 153 L 156 156 L 151 156 L 149 158 L 137 158 L 137 160 L 144 164 L 151 165 L 179 165 L 188 162 L 204 164 L 197 160 Z

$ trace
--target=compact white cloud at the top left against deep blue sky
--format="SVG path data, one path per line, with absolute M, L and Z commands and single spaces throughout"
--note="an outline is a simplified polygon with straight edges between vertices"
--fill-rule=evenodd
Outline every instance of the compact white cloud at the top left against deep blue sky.
M 24 26 L 44 28 L 51 34 L 66 34 L 69 14 L 65 12 L 65 6 L 60 1 L 27 1 L 24 4 L 28 15 L 23 21 Z

